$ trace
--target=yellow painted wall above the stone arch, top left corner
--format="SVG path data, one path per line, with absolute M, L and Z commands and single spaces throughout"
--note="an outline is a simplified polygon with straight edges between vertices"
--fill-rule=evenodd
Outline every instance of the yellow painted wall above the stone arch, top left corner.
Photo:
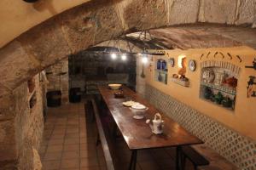
M 37 3 L 25 3 L 23 0 L 1 0 L 0 48 L 55 14 L 89 1 L 39 0 Z

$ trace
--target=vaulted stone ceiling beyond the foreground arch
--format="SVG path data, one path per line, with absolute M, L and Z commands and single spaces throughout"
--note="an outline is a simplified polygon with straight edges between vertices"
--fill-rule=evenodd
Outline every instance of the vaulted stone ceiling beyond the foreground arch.
M 134 32 L 112 41 L 102 42 L 97 46 L 117 47 L 121 46 L 120 42 L 125 42 L 132 52 L 137 51 L 135 48 L 224 48 L 241 45 L 256 49 L 256 30 L 218 25 L 178 26 Z

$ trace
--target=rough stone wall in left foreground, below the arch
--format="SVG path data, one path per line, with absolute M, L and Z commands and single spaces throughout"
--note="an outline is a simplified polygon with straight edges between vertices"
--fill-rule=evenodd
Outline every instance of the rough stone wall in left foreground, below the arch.
M 28 90 L 27 82 L 23 82 L 9 96 L 9 102 L 1 105 L 6 106 L 1 111 L 9 111 L 9 115 L 5 116 L 7 120 L 2 117 L 0 123 L 0 162 L 9 161 L 9 165 L 12 165 L 6 166 L 6 169 L 36 168 L 33 162 L 38 159 L 36 156 L 43 135 L 44 117 L 42 86 L 39 76 L 34 78 L 35 88 L 32 93 Z M 32 98 L 36 99 L 33 105 L 30 104 Z

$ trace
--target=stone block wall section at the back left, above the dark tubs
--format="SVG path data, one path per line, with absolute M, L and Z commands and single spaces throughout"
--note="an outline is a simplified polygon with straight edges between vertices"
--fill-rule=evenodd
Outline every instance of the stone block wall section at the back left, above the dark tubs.
M 48 91 L 61 90 L 61 103 L 68 103 L 68 59 L 63 59 L 55 65 L 46 69 L 46 77 L 49 81 L 47 84 Z

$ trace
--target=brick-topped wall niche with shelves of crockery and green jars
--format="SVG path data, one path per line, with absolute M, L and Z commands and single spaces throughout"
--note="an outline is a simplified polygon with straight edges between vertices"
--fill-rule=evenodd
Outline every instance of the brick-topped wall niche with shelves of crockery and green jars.
M 201 65 L 200 98 L 234 111 L 237 77 L 240 68 L 233 65 L 227 67 L 226 65 L 231 64 L 207 62 Z

